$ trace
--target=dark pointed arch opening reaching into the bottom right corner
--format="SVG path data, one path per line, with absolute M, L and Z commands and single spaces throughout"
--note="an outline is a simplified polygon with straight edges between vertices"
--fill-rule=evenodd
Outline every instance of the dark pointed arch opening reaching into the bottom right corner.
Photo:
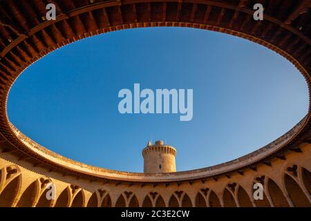
M 292 200 L 294 206 L 311 206 L 308 198 L 305 196 L 305 193 L 303 193 L 299 184 L 292 177 L 290 177 L 290 175 L 285 173 L 284 182 L 286 191 L 288 191 L 288 195 L 290 195 L 290 199 Z

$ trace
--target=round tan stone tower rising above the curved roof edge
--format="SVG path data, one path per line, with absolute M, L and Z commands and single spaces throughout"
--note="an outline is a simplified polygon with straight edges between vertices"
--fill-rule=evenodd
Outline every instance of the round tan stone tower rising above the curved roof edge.
M 176 172 L 176 148 L 165 145 L 162 140 L 152 145 L 149 141 L 142 150 L 144 157 L 144 173 L 171 173 Z

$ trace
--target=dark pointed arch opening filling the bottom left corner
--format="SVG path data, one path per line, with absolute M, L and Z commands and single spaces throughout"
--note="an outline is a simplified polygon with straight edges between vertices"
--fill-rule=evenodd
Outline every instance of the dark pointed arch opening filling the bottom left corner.
M 15 201 L 21 185 L 21 175 L 18 175 L 6 185 L 0 193 L 0 207 L 10 207 Z

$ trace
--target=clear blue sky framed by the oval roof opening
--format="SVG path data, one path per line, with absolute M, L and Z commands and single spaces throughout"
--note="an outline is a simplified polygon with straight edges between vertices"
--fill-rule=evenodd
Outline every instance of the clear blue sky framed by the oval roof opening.
M 122 88 L 193 88 L 194 117 L 121 115 Z M 298 70 L 245 39 L 190 28 L 142 28 L 70 44 L 30 66 L 8 99 L 10 121 L 73 160 L 143 171 L 142 148 L 177 148 L 178 171 L 241 157 L 275 140 L 308 111 Z

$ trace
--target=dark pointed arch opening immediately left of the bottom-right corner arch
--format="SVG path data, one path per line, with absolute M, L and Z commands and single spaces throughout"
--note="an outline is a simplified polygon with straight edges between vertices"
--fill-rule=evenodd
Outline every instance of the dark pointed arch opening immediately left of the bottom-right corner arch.
M 276 207 L 288 207 L 288 200 L 286 200 L 283 192 L 281 191 L 280 187 L 269 178 L 267 182 L 267 189 L 271 196 L 272 202 Z

